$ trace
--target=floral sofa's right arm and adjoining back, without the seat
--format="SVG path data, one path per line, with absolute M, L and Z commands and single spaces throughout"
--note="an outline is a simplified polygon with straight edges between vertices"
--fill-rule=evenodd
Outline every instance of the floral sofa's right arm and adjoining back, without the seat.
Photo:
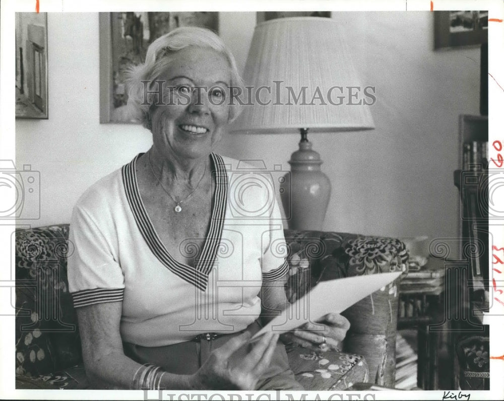
M 408 251 L 395 238 L 349 233 L 285 230 L 289 248 L 287 296 L 293 302 L 320 281 L 401 271 Z M 398 283 L 357 302 L 342 314 L 350 321 L 344 351 L 363 355 L 369 379 L 393 386 L 398 312 Z

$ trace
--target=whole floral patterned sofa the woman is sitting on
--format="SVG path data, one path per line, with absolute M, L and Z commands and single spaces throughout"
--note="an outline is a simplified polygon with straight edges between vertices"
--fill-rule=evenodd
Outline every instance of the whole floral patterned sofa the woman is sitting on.
M 88 388 L 79 329 L 68 292 L 69 225 L 16 230 L 16 388 Z M 286 292 L 292 302 L 319 281 L 405 271 L 408 253 L 393 238 L 285 230 Z M 399 279 L 398 279 L 399 280 Z M 296 379 L 311 390 L 356 382 L 392 387 L 398 280 L 344 312 L 351 327 L 343 352 L 287 347 Z

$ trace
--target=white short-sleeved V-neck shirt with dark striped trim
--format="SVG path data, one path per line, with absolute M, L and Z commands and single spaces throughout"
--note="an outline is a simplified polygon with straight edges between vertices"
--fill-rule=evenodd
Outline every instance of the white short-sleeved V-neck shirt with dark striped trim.
M 158 347 L 205 332 L 244 329 L 261 312 L 262 281 L 287 272 L 286 246 L 268 172 L 211 155 L 216 190 L 201 252 L 180 244 L 177 262 L 145 210 L 135 164 L 91 186 L 74 208 L 69 287 L 75 307 L 122 301 L 124 342 Z M 171 210 L 169 211 L 171 213 Z

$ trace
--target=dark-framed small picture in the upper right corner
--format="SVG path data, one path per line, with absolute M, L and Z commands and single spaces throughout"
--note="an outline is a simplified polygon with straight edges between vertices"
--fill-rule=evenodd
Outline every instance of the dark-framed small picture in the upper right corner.
M 488 11 L 435 11 L 434 49 L 488 43 Z

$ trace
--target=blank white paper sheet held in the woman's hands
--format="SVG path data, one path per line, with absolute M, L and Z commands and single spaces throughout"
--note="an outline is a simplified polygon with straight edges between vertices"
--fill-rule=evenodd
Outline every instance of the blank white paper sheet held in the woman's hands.
M 256 333 L 257 339 L 267 331 L 284 333 L 300 325 L 316 322 L 324 315 L 341 313 L 362 298 L 392 283 L 401 272 L 347 277 L 319 283 L 304 297 L 289 304 L 282 314 L 275 317 Z M 389 291 L 385 288 L 384 291 Z

